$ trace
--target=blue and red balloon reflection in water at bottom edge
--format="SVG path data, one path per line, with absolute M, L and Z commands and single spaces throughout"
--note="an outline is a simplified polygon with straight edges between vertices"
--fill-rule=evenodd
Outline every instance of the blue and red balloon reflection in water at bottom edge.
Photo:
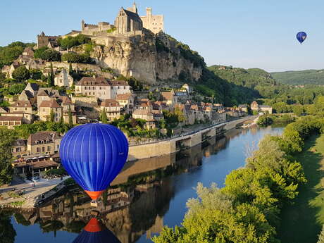
M 73 243 L 120 243 L 120 241 L 96 218 L 92 218 Z

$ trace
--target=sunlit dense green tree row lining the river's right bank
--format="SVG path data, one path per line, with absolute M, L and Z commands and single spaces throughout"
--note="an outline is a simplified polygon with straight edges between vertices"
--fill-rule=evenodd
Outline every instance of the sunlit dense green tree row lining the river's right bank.
M 287 125 L 280 136 L 264 137 L 247 165 L 226 177 L 225 187 L 206 188 L 199 183 L 197 199 L 187 201 L 182 226 L 163 228 L 153 241 L 278 243 L 275 227 L 280 210 L 306 182 L 301 164 L 292 155 L 301 151 L 304 139 L 323 131 L 323 118 L 303 118 Z

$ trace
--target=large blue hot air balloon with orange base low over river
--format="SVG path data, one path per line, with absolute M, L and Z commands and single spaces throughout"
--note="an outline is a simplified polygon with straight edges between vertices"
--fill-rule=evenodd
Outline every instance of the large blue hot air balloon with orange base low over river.
M 68 174 L 93 200 L 125 165 L 128 142 L 117 127 L 92 123 L 69 130 L 61 141 L 60 157 Z

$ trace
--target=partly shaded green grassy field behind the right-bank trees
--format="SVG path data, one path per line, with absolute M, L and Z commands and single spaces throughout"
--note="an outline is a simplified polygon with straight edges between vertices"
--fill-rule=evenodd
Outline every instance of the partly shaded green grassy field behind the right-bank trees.
M 324 135 L 308 139 L 297 159 L 308 182 L 294 204 L 282 209 L 278 236 L 282 243 L 316 243 L 324 224 Z

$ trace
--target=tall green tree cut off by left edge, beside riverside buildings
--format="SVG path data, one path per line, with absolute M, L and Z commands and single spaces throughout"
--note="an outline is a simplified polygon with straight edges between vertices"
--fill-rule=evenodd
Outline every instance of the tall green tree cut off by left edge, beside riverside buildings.
M 16 138 L 13 130 L 0 127 L 0 185 L 11 182 L 13 176 L 13 166 L 11 165 L 13 156 L 11 150 Z

